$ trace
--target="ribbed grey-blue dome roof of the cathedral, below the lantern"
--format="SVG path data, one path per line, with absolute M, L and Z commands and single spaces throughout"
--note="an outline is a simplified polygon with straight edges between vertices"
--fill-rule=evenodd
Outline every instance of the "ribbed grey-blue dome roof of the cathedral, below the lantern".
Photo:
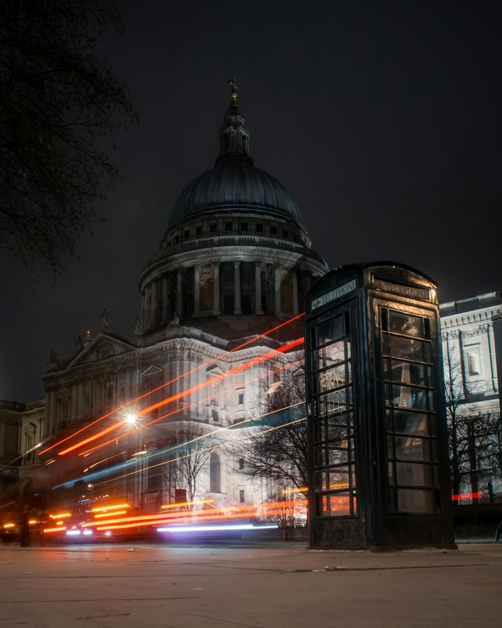
M 273 176 L 245 161 L 220 161 L 194 179 L 178 197 L 169 227 L 206 212 L 257 212 L 301 225 L 296 203 Z

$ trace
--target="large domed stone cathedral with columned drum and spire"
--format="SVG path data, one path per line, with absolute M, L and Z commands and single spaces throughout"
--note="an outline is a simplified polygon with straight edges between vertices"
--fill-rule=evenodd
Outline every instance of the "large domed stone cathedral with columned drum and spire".
M 141 271 L 134 336 L 117 335 L 105 310 L 102 331 L 53 355 L 43 377 L 40 477 L 61 506 L 73 484 L 141 512 L 180 495 L 261 503 L 272 490 L 239 474 L 232 443 L 296 356 L 303 295 L 327 266 L 286 188 L 254 166 L 235 90 L 218 138 L 215 166 L 181 192 Z M 97 436 L 108 428 L 111 440 Z M 86 437 L 95 449 L 56 455 Z

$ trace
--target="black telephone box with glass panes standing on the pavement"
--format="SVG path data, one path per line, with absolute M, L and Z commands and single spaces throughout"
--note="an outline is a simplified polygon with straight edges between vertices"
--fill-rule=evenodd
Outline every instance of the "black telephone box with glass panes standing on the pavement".
M 435 283 L 361 264 L 306 296 L 311 546 L 453 546 Z

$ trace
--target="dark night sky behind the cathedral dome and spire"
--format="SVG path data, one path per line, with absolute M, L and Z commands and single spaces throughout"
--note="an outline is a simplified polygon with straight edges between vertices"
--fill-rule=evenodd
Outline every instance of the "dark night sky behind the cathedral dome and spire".
M 236 77 L 256 166 L 291 192 L 330 268 L 392 259 L 449 301 L 502 289 L 501 4 L 147 0 L 102 54 L 141 123 L 117 137 L 121 180 L 58 279 L 2 272 L 0 398 L 43 396 L 50 349 L 131 337 L 137 278 L 181 190 L 212 168 Z

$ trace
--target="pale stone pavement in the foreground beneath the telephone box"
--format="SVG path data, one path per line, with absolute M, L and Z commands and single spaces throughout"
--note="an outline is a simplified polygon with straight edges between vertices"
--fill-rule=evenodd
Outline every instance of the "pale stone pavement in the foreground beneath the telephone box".
M 0 625 L 500 628 L 502 543 L 378 554 L 277 542 L 5 546 Z

